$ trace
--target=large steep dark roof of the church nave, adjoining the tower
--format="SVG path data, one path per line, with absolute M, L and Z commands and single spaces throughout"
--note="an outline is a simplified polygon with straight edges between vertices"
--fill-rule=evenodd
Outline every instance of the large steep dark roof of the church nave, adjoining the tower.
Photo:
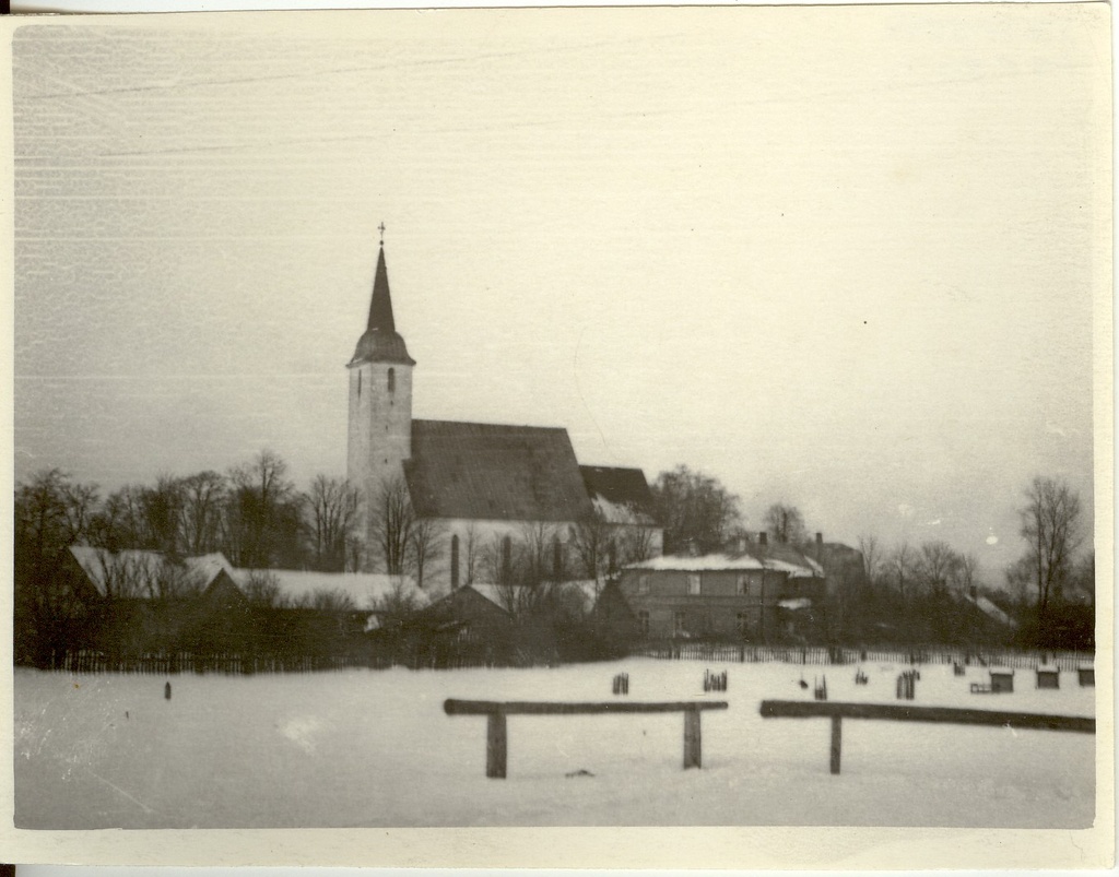
M 424 518 L 574 521 L 591 510 L 563 428 L 413 421 L 404 477 Z

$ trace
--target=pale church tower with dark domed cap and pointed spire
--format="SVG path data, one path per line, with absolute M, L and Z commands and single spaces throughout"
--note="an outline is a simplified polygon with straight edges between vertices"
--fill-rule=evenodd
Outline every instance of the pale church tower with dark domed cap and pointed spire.
M 382 226 L 384 234 L 384 226 Z M 399 475 L 412 456 L 412 367 L 404 339 L 393 320 L 385 242 L 377 255 L 369 321 L 358 339 L 349 371 L 349 443 L 346 474 L 361 492 L 361 529 L 366 551 L 373 550 L 369 510 L 382 484 Z

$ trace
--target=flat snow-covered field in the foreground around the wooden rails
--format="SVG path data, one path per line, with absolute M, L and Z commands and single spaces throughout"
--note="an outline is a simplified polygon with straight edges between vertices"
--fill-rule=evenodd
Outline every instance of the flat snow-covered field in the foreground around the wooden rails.
M 728 671 L 725 695 L 705 669 Z M 718 664 L 629 659 L 533 670 L 292 676 L 15 675 L 20 828 L 373 826 L 925 826 L 1088 828 L 1094 737 L 844 722 L 843 773 L 827 719 L 762 719 L 762 699 L 897 704 L 903 666 Z M 801 679 L 809 688 L 802 689 Z M 684 771 L 679 714 L 513 716 L 509 776 L 487 780 L 486 719 L 448 697 L 726 699 L 703 714 L 703 770 Z M 822 672 L 821 672 L 822 671 Z M 916 706 L 1094 715 L 1094 689 L 1061 673 L 1037 690 L 972 695 L 980 668 L 921 667 Z M 904 701 L 909 702 L 909 701 Z M 585 771 L 591 775 L 577 774 Z

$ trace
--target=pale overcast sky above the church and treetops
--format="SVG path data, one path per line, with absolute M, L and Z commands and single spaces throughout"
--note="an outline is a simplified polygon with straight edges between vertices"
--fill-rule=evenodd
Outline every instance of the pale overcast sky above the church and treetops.
M 1098 6 L 312 13 L 13 43 L 16 477 L 344 474 L 376 263 L 414 415 L 566 426 L 855 544 L 1092 500 Z M 1090 524 L 1090 516 L 1085 524 Z

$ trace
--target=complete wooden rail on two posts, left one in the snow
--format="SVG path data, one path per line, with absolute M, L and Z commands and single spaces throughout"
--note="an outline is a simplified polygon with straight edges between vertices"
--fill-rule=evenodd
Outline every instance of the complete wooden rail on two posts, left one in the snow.
M 683 702 L 608 702 L 565 704 L 524 700 L 455 700 L 443 702 L 449 716 L 487 716 L 486 775 L 504 779 L 508 762 L 508 729 L 506 716 L 574 716 L 600 713 L 683 713 L 684 714 L 684 770 L 703 766 L 699 714 L 705 709 L 726 709 L 725 700 Z

